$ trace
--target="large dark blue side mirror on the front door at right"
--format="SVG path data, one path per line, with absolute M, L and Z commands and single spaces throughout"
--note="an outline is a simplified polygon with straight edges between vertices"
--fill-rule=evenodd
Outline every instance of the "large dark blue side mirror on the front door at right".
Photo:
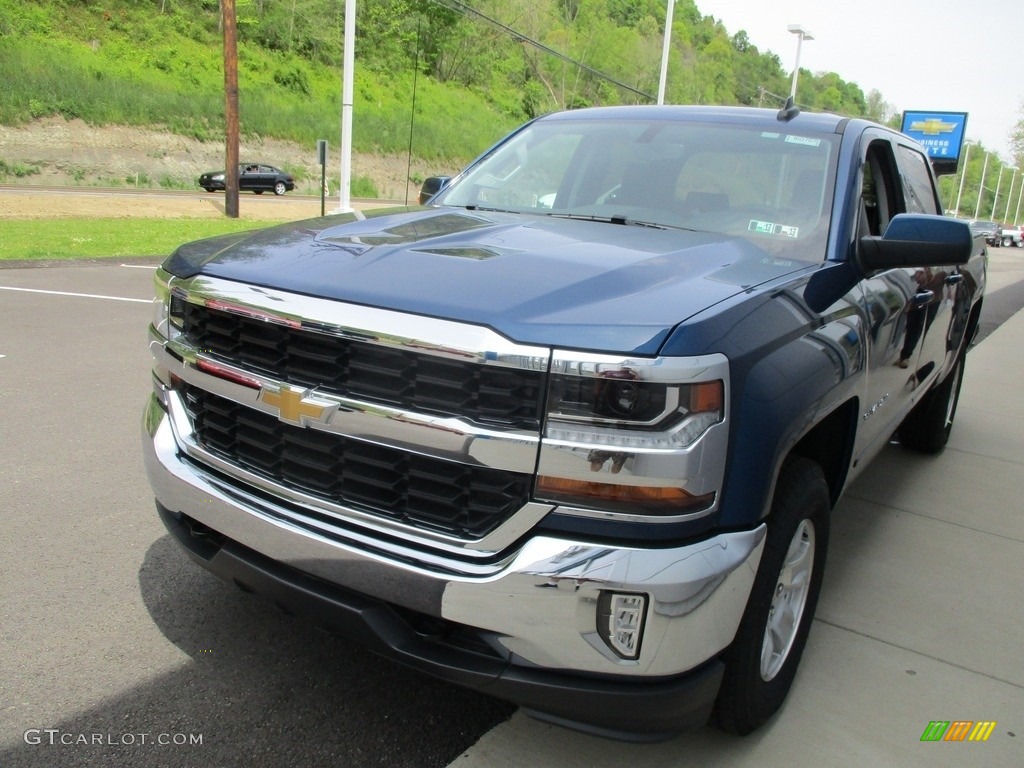
M 881 238 L 860 239 L 857 265 L 868 274 L 883 269 L 966 264 L 974 237 L 966 221 L 924 213 L 893 216 Z

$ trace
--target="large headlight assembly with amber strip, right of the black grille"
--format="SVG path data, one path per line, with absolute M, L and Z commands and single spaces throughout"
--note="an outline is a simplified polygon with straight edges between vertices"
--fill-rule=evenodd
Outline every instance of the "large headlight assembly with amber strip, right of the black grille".
M 715 508 L 728 361 L 556 350 L 536 496 L 570 514 L 679 520 Z

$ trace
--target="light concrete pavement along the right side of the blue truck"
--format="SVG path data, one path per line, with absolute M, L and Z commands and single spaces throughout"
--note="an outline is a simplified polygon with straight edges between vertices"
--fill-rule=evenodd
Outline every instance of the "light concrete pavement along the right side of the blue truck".
M 890 445 L 847 490 L 796 683 L 761 730 L 622 744 L 517 713 L 452 768 L 1024 765 L 1022 350 L 1018 312 L 968 356 L 945 452 Z M 996 725 L 922 741 L 932 721 Z

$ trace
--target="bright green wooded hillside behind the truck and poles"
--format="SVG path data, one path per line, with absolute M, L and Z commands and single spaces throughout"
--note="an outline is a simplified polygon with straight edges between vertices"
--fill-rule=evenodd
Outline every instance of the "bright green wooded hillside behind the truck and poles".
M 237 0 L 245 136 L 311 146 L 340 125 L 343 0 Z M 664 0 L 358 0 L 353 150 L 458 167 L 556 109 L 657 91 Z M 514 31 L 514 34 L 513 34 Z M 788 72 L 678 0 L 666 100 L 780 105 Z M 582 66 L 581 66 L 582 65 Z M 218 0 L 0 0 L 0 125 L 52 116 L 223 141 Z M 798 102 L 890 116 L 838 75 Z M 415 110 L 414 110 L 415 102 Z M 31 172 L 6 162 L 0 180 Z

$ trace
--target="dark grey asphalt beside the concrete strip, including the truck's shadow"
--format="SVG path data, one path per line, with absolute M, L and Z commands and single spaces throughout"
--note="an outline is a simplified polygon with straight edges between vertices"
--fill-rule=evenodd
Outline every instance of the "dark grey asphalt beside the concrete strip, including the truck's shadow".
M 151 271 L 0 268 L 0 766 L 447 765 L 513 708 L 281 614 L 159 522 Z M 985 330 L 1022 306 L 1000 249 Z

